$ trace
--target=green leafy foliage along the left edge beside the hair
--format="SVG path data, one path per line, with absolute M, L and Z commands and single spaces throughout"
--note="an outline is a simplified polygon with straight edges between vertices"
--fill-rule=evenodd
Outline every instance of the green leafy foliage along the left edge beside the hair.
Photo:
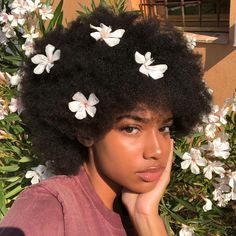
M 2 9 L 11 14 L 10 4 L 13 1 L 3 0 Z M 51 1 L 45 2 L 51 6 Z M 32 27 L 40 36 L 62 24 L 63 0 L 58 4 L 51 20 L 43 20 L 38 10 L 27 12 L 27 21 L 13 27 L 12 37 L 2 38 L 0 42 L 0 219 L 6 214 L 16 196 L 28 185 L 30 180 L 25 178 L 27 170 L 39 165 L 40 160 L 31 152 L 31 141 L 27 127 L 16 112 L 11 112 L 11 99 L 19 96 L 16 86 L 10 83 L 10 78 L 18 74 L 21 62 L 26 58 L 22 46 Z M 11 22 L 9 22 L 11 23 Z M 0 22 L 1 32 L 4 22 Z

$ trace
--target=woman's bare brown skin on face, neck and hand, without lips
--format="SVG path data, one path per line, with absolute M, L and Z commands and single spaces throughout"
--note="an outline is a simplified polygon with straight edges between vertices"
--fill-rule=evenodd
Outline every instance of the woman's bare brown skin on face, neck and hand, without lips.
M 102 138 L 79 140 L 89 148 L 84 168 L 105 206 L 122 191 L 122 201 L 139 235 L 167 235 L 157 207 L 169 183 L 173 141 L 170 112 L 136 109 L 117 118 Z M 144 181 L 138 173 L 157 168 L 160 177 Z

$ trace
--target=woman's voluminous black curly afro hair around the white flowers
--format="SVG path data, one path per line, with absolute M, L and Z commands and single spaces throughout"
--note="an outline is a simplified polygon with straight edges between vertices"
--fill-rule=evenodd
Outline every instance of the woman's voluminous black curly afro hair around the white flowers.
M 112 30 L 125 29 L 120 43 L 109 47 L 90 36 L 90 24 L 104 23 Z M 36 54 L 45 54 L 47 44 L 61 50 L 50 73 L 33 73 L 28 58 L 23 66 L 23 120 L 32 132 L 33 150 L 51 160 L 55 173 L 74 174 L 87 157 L 87 148 L 77 135 L 103 137 L 118 114 L 144 104 L 173 114 L 172 130 L 188 134 L 210 112 L 211 96 L 202 81 L 201 56 L 194 54 L 181 32 L 156 19 L 137 14 L 114 15 L 99 7 L 77 18 L 68 28 L 58 27 L 35 43 Z M 166 64 L 164 77 L 154 80 L 139 72 L 135 52 L 151 52 L 154 65 Z M 32 56 L 34 56 L 32 55 Z M 94 118 L 78 120 L 68 109 L 77 92 L 99 98 Z

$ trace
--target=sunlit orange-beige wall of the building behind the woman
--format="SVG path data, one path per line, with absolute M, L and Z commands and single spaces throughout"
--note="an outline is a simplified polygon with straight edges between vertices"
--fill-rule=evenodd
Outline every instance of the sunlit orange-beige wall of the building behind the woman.
M 55 4 L 59 0 L 55 0 Z M 64 16 L 66 22 L 70 22 L 78 15 L 76 10 L 79 4 L 89 5 L 90 0 L 64 0 Z M 139 9 L 140 0 L 128 0 L 129 9 Z M 223 101 L 231 97 L 236 88 L 236 47 L 233 47 L 234 22 L 236 21 L 236 0 L 231 0 L 230 33 L 227 45 L 197 44 L 196 52 L 203 56 L 205 70 L 204 79 L 214 91 L 214 103 L 221 105 Z

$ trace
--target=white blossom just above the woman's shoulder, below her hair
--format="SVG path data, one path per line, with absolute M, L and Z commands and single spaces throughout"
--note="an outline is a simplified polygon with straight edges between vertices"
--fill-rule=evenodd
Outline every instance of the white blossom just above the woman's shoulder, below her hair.
M 51 176 L 53 176 L 53 174 L 47 163 L 46 166 L 38 165 L 37 167 L 33 167 L 32 170 L 28 170 L 25 174 L 27 179 L 31 179 L 31 184 L 37 184 L 41 180 L 48 179 Z

